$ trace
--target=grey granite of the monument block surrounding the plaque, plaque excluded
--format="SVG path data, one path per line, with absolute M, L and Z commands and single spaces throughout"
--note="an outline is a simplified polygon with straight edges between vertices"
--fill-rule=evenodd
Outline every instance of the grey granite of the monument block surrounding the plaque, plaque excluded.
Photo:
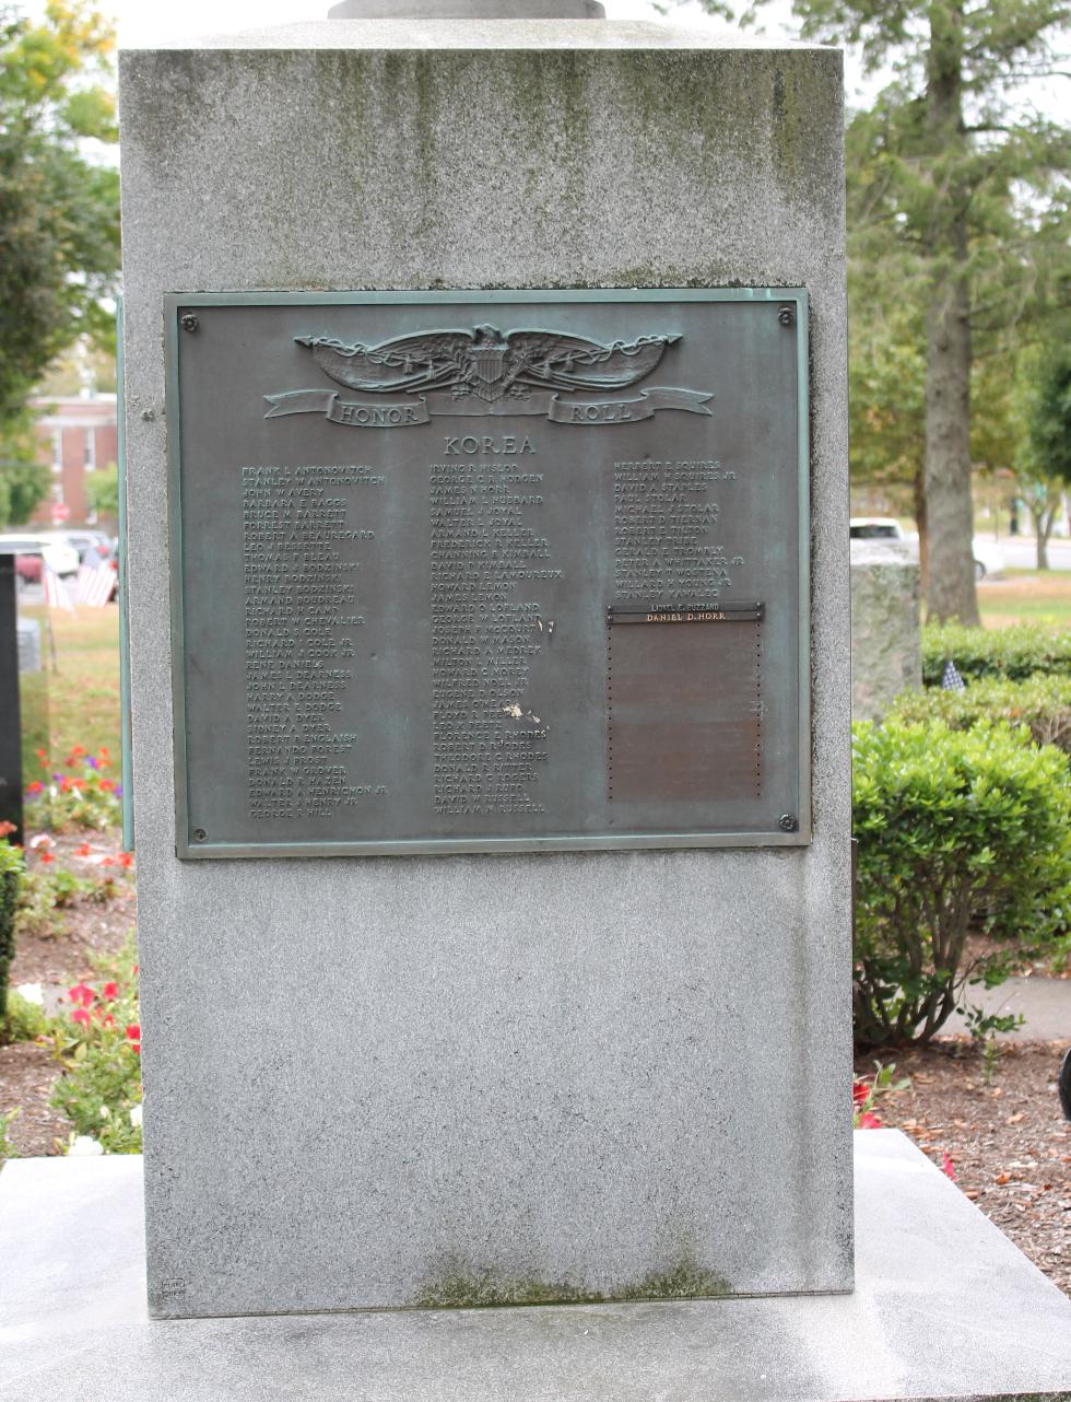
M 336 20 L 121 90 L 151 1311 L 850 1290 L 840 55 Z M 177 859 L 164 294 L 576 286 L 809 292 L 812 844 Z

